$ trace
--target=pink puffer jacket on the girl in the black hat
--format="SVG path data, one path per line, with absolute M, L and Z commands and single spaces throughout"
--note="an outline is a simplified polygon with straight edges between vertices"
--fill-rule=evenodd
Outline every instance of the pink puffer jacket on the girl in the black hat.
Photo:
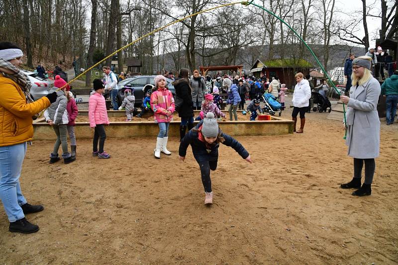
M 97 124 L 109 124 L 105 98 L 100 93 L 95 92 L 89 98 L 89 121 L 91 128 Z

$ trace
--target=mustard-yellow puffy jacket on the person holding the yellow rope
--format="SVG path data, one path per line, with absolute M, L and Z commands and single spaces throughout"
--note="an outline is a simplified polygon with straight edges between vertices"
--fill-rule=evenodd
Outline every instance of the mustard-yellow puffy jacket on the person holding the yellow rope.
M 0 74 L 0 146 L 16 145 L 32 140 L 32 116 L 50 105 L 43 96 L 26 103 L 17 83 Z

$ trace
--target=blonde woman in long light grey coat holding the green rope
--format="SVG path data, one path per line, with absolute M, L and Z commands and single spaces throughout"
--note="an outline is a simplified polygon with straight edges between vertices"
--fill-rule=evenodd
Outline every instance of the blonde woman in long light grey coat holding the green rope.
M 341 184 L 341 188 L 359 188 L 352 195 L 365 196 L 372 193 L 371 184 L 375 174 L 375 158 L 379 156 L 380 120 L 377 103 L 380 96 L 380 84 L 372 77 L 372 58 L 361 56 L 352 62 L 352 87 L 350 96 L 341 95 L 347 103 L 347 139 L 348 156 L 354 158 L 354 177 Z M 365 182 L 361 187 L 362 167 L 365 162 Z

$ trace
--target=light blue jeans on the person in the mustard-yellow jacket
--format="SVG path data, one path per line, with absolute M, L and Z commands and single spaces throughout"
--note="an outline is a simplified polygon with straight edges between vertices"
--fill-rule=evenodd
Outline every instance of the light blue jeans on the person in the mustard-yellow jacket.
M 21 205 L 26 203 L 19 185 L 26 143 L 0 147 L 0 199 L 10 222 L 25 217 Z

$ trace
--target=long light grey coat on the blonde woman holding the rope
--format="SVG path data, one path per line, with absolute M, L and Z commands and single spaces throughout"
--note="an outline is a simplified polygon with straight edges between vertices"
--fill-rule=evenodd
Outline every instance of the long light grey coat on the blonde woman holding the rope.
M 380 148 L 380 119 L 377 103 L 380 84 L 371 78 L 363 86 L 350 89 L 346 112 L 348 156 L 353 158 L 377 158 Z

